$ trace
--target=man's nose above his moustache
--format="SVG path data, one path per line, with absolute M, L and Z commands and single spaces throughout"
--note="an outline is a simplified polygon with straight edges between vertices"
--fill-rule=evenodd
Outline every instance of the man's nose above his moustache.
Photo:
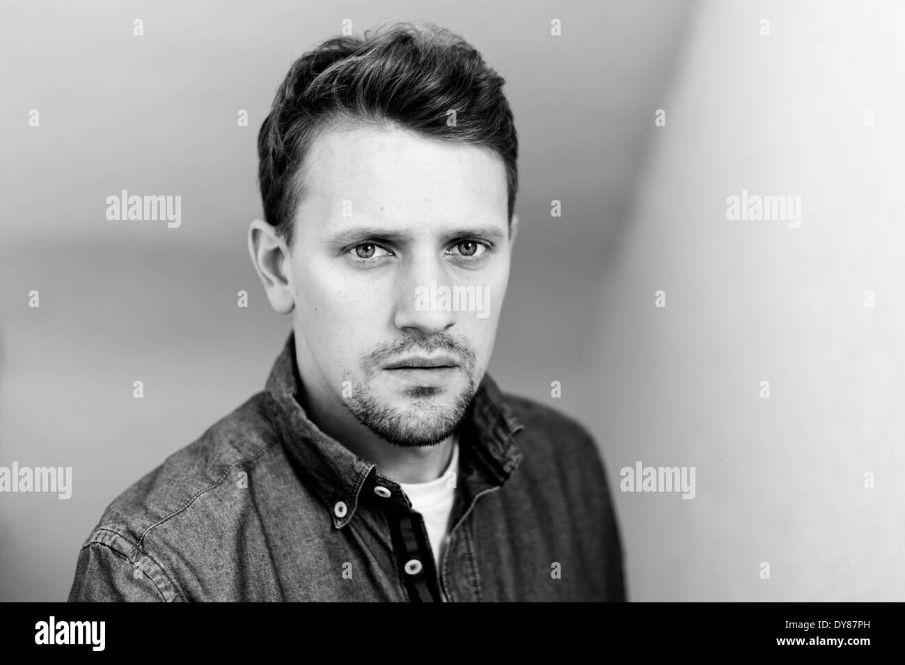
M 393 316 L 396 328 L 430 337 L 456 324 L 458 312 L 452 309 L 449 275 L 439 257 L 408 261 L 396 290 Z

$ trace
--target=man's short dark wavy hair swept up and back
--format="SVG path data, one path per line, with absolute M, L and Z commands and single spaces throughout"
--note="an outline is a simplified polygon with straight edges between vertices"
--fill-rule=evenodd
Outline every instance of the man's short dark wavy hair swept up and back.
M 313 139 L 325 128 L 373 123 L 495 150 L 506 166 L 511 225 L 519 139 L 504 83 L 477 49 L 434 24 L 387 24 L 319 44 L 292 64 L 258 132 L 264 219 L 291 247 Z

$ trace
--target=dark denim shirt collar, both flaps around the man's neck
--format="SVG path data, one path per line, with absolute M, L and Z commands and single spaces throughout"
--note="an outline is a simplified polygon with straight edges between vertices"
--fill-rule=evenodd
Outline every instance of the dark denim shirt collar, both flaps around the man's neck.
M 334 525 L 344 527 L 355 514 L 366 480 L 376 475 L 376 465 L 361 459 L 310 421 L 298 399 L 301 386 L 295 333 L 291 332 L 267 379 L 268 411 L 294 470 L 317 493 Z M 463 424 L 459 445 L 471 453 L 474 478 L 482 487 L 502 485 L 521 461 L 514 435 L 523 426 L 490 375 L 481 379 Z

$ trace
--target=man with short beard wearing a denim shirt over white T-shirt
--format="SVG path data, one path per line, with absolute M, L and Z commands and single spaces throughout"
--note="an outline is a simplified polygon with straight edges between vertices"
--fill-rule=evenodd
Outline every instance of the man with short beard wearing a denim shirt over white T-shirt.
M 518 224 L 502 85 L 434 26 L 292 65 L 249 247 L 293 333 L 110 504 L 71 601 L 624 600 L 591 436 L 485 374 Z

